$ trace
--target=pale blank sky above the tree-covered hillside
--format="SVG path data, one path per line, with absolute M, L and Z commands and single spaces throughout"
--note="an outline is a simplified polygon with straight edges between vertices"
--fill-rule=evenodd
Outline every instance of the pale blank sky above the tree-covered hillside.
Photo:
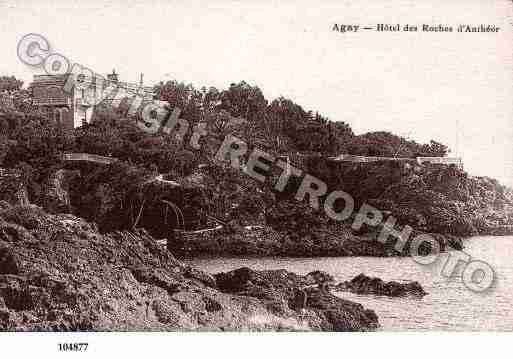
M 332 31 L 334 24 L 495 25 L 498 33 Z M 30 82 L 18 41 L 145 85 L 227 88 L 245 80 L 269 99 L 447 144 L 472 175 L 513 185 L 513 2 L 0 0 L 0 75 Z

